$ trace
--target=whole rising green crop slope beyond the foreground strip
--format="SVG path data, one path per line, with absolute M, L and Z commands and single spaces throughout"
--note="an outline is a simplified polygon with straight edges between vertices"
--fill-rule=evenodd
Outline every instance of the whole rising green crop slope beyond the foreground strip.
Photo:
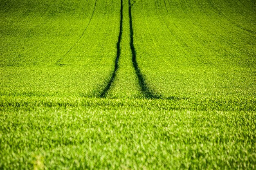
M 250 3 L 124 0 L 119 38 L 121 1 L 1 2 L 0 94 L 255 96 Z

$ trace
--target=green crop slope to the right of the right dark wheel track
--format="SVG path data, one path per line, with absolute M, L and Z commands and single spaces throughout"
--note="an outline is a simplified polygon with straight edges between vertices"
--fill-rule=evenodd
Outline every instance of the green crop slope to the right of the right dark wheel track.
M 256 21 L 241 3 L 136 2 L 134 43 L 148 86 L 164 98 L 255 97 Z

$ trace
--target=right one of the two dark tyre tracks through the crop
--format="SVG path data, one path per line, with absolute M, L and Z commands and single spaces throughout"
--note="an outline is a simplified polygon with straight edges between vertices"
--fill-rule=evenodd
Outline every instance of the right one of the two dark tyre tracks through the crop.
M 141 87 L 142 93 L 146 98 L 160 98 L 158 94 L 152 92 L 152 90 L 147 86 L 144 76 L 141 74 L 139 69 L 137 59 L 136 59 L 136 50 L 133 44 L 133 28 L 132 28 L 132 12 L 131 12 L 131 0 L 129 0 L 129 18 L 130 18 L 130 48 L 132 51 L 132 64 L 139 79 L 139 85 Z

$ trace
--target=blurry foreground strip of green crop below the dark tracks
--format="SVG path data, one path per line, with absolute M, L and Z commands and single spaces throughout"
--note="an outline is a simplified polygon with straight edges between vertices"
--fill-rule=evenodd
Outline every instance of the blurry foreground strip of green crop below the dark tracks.
M 2 169 L 255 168 L 248 101 L 6 97 L 0 106 Z

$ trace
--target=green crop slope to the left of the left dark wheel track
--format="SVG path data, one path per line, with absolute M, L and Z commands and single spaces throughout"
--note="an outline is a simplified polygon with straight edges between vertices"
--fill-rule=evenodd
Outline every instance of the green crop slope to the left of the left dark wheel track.
M 0 6 L 0 94 L 67 97 L 103 91 L 116 57 L 120 3 L 29 0 Z

